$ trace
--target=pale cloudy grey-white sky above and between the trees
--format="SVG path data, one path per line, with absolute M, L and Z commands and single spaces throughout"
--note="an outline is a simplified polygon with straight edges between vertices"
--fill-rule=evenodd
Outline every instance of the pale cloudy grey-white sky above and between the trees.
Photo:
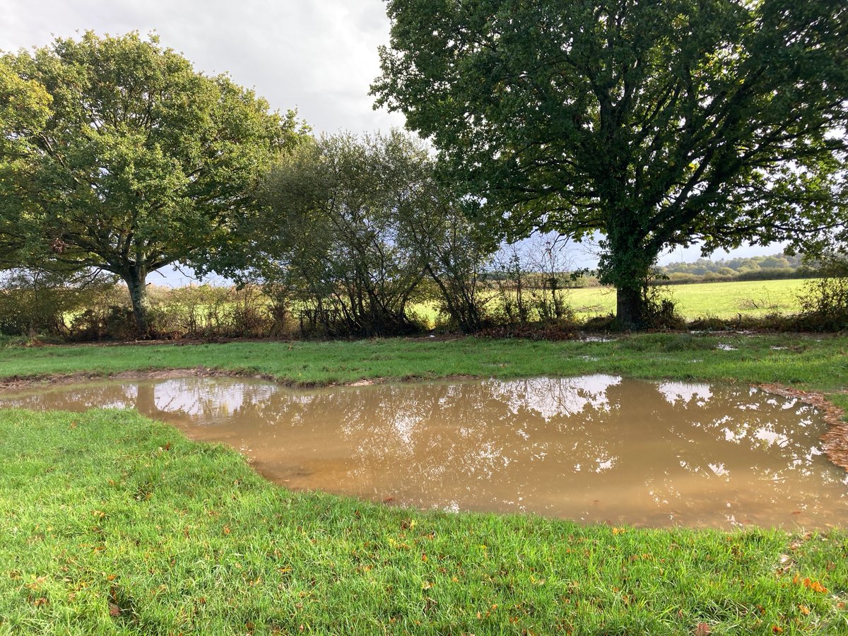
M 0 0 L 0 50 L 42 47 L 55 36 L 155 31 L 165 47 L 207 74 L 228 72 L 274 109 L 297 109 L 315 132 L 355 133 L 403 127 L 404 116 L 372 109 L 377 47 L 388 43 L 382 0 Z M 774 254 L 780 246 L 740 248 L 735 255 Z M 591 255 L 575 259 L 591 266 Z M 713 258 L 723 258 L 717 253 Z M 698 259 L 689 248 L 662 263 Z M 148 278 L 179 285 L 191 273 L 166 268 Z

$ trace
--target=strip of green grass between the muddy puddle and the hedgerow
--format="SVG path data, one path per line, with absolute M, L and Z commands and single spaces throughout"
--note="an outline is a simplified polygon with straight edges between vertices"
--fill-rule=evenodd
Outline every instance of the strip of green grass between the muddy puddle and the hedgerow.
M 720 348 L 723 347 L 724 349 Z M 612 342 L 429 338 L 0 349 L 0 377 L 209 367 L 304 384 L 370 378 L 629 377 L 848 385 L 848 338 L 641 334 Z

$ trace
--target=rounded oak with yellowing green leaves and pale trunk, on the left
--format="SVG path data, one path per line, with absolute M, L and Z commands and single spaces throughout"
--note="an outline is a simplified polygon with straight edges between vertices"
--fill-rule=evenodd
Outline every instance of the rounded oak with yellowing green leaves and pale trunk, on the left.
M 0 80 L 0 252 L 120 276 L 142 335 L 148 273 L 220 244 L 302 134 L 155 36 L 57 39 L 4 55 Z

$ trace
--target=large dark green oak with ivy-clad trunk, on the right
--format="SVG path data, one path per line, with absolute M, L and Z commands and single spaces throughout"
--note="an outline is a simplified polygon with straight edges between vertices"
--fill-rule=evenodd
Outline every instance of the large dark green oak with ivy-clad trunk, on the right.
M 494 232 L 604 235 L 624 326 L 663 250 L 845 215 L 845 0 L 388 0 L 377 105 Z

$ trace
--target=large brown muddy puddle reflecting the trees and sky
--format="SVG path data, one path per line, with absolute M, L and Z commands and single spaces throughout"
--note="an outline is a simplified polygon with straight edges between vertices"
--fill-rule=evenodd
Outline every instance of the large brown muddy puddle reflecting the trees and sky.
M 747 386 L 576 378 L 317 389 L 192 377 L 0 395 L 134 408 L 238 449 L 271 480 L 393 505 L 638 526 L 848 525 L 821 414 Z

